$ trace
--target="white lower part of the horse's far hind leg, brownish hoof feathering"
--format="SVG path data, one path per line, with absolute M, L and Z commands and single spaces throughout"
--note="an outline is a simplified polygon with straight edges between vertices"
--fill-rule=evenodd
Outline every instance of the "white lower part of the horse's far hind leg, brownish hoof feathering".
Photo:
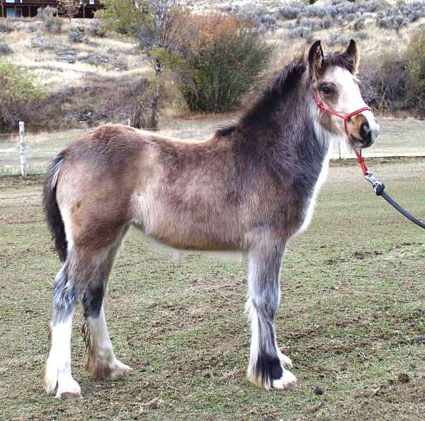
M 103 306 L 98 318 L 87 318 L 90 330 L 90 356 L 87 369 L 94 378 L 122 378 L 131 370 L 113 353 L 112 342 L 106 327 Z

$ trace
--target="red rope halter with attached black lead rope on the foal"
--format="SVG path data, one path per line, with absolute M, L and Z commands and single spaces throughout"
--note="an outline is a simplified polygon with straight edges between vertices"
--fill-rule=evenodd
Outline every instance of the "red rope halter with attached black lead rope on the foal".
M 344 131 L 347 135 L 348 141 L 350 140 L 350 135 L 348 134 L 348 128 L 347 128 L 347 121 L 351 119 L 351 117 L 356 116 L 357 114 L 362 113 L 363 111 L 370 111 L 370 108 L 368 106 L 365 106 L 363 108 L 359 108 L 356 111 L 353 111 L 352 113 L 345 114 L 345 113 L 339 113 L 337 111 L 332 110 L 331 108 L 328 108 L 324 105 L 322 100 L 319 98 L 319 95 L 316 91 L 313 92 L 314 101 L 316 101 L 317 106 L 324 112 L 333 114 L 334 116 L 337 116 L 339 118 L 342 118 L 344 120 Z M 361 150 L 356 150 L 356 147 L 353 146 L 353 151 L 356 154 L 357 162 L 361 167 L 361 171 L 363 172 L 363 177 L 366 181 L 368 181 L 370 184 L 372 184 L 373 191 L 375 191 L 376 196 L 382 196 L 385 198 L 385 200 L 390 203 L 391 206 L 393 206 L 399 213 L 404 215 L 407 219 L 411 220 L 412 223 L 415 223 L 421 228 L 425 229 L 425 223 L 423 223 L 418 218 L 414 217 L 411 213 L 409 213 L 406 209 L 404 209 L 402 206 L 400 206 L 389 194 L 385 193 L 385 184 L 381 183 L 378 179 L 375 178 L 373 175 L 373 172 L 371 172 L 363 157 L 361 156 Z

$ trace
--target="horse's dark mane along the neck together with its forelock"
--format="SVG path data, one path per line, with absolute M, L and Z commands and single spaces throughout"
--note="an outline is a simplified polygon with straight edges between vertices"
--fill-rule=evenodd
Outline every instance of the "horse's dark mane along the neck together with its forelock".
M 342 52 L 331 52 L 324 56 L 322 71 L 329 66 L 344 67 L 348 70 L 353 67 L 354 57 L 344 55 Z M 302 74 L 307 69 L 305 54 L 295 57 L 295 59 L 283 67 L 266 86 L 254 103 L 247 108 L 236 123 L 229 123 L 218 127 L 216 135 L 226 136 L 238 128 L 246 128 L 255 123 L 261 123 L 273 109 L 276 101 L 282 101 L 285 96 L 293 91 L 300 81 Z

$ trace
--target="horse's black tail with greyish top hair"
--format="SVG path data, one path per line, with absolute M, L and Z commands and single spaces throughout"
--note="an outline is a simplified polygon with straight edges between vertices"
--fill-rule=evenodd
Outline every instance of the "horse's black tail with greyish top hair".
M 59 206 L 57 206 L 56 184 L 63 159 L 64 155 L 57 155 L 52 164 L 50 164 L 47 170 L 42 198 L 47 224 L 52 233 L 52 240 L 55 241 L 55 249 L 62 262 L 67 259 L 68 242 L 67 236 L 65 235 L 64 221 Z

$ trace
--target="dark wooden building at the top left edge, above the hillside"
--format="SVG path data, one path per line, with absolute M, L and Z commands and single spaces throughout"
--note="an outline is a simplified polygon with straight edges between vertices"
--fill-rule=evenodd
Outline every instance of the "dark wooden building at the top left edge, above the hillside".
M 93 18 L 94 12 L 101 9 L 99 0 L 79 0 L 81 4 L 76 18 Z M 32 18 L 37 16 L 39 7 L 58 9 L 56 0 L 0 0 L 0 18 Z M 59 10 L 59 14 L 62 12 Z

